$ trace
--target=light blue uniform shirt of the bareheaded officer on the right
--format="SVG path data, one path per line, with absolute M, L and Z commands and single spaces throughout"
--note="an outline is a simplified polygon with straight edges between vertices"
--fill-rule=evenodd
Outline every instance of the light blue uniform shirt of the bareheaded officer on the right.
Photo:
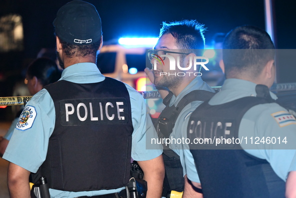
M 230 102 L 242 97 L 256 96 L 255 91 L 256 84 L 250 81 L 240 79 L 227 79 L 221 88 L 221 91 L 215 94 L 209 101 L 210 105 L 219 105 L 226 102 Z M 270 92 L 273 99 L 276 99 L 276 95 Z M 291 122 L 288 125 L 283 125 L 275 119 L 275 114 L 286 113 L 287 110 L 276 103 L 260 104 L 250 108 L 242 117 L 239 125 L 238 137 L 247 137 L 250 140 L 251 137 L 258 137 L 260 140 L 262 137 L 286 137 L 287 141 L 296 139 L 296 122 Z M 278 140 L 277 140 L 278 141 Z M 244 142 L 244 141 L 243 141 Z M 283 142 L 281 142 L 283 143 Z M 283 145 L 283 144 L 282 144 Z M 258 157 L 260 159 L 266 159 L 274 172 L 284 181 L 287 174 L 291 170 L 296 170 L 296 159 L 292 162 L 296 150 L 295 149 L 275 149 L 279 148 L 278 142 L 272 143 L 259 143 L 250 144 L 248 141 L 245 145 L 241 144 L 242 148 L 252 149 L 245 150 L 247 153 Z M 246 147 L 247 146 L 247 147 Z M 282 147 L 281 147 L 282 148 Z M 200 182 L 199 178 L 192 178 L 191 175 L 187 175 L 190 180 Z

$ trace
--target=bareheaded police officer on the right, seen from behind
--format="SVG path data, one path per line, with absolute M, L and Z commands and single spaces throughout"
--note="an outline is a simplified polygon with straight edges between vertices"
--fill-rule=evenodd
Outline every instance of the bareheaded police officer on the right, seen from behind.
M 190 140 L 199 140 L 189 146 L 204 197 L 295 197 L 296 120 L 269 91 L 274 54 L 269 35 L 257 27 L 226 35 L 224 85 L 188 124 Z

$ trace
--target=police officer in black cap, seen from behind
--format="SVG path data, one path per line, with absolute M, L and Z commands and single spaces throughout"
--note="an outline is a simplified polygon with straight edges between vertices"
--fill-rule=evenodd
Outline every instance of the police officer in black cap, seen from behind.
M 53 24 L 65 69 L 27 103 L 4 154 L 11 197 L 30 197 L 29 175 L 39 168 L 51 197 L 125 197 L 131 157 L 144 171 L 147 197 L 160 197 L 162 148 L 145 148 L 146 134 L 157 135 L 144 99 L 96 66 L 102 46 L 96 8 L 72 1 Z

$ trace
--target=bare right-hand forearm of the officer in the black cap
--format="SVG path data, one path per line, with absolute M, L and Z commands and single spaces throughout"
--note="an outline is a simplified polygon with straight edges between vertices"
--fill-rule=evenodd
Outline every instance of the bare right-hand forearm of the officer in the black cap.
M 137 161 L 144 172 L 144 179 L 147 181 L 147 198 L 161 197 L 164 179 L 164 163 L 162 155 L 146 161 Z

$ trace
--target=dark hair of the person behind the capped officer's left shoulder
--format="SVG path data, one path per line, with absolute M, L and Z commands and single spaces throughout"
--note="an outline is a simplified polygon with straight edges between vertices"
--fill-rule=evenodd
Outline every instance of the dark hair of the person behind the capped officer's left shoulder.
M 27 76 L 31 79 L 36 76 L 43 86 L 58 81 L 61 73 L 57 64 L 45 57 L 35 59 L 27 69 Z

